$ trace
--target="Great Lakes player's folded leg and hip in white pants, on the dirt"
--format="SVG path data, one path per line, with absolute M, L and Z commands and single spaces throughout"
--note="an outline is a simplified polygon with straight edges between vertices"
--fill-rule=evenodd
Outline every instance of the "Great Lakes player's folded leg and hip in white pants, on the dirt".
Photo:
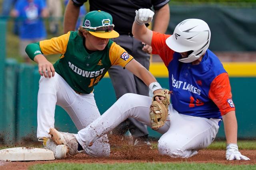
M 212 143 L 218 133 L 220 119 L 178 114 L 171 105 L 170 111 L 170 128 L 158 141 L 160 154 L 188 158 Z

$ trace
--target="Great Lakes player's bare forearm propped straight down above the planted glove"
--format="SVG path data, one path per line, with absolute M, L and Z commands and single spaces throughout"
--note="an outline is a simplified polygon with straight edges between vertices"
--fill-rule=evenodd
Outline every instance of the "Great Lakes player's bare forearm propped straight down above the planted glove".
M 226 143 L 237 143 L 237 121 L 235 111 L 222 115 L 226 134 Z

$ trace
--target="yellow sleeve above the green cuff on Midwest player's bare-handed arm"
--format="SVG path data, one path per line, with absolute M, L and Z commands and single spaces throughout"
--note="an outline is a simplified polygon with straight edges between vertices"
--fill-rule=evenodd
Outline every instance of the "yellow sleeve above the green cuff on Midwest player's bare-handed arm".
M 61 35 L 60 37 L 54 37 L 40 41 L 39 45 L 43 54 L 65 54 L 70 32 Z

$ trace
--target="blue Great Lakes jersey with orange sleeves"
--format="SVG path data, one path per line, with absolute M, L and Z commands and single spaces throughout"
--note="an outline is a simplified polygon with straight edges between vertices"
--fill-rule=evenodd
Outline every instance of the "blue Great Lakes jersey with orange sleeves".
M 200 64 L 182 63 L 180 53 L 165 43 L 170 35 L 153 33 L 152 53 L 159 54 L 169 72 L 171 102 L 179 113 L 197 117 L 222 118 L 235 110 L 228 74 L 222 63 L 206 51 Z

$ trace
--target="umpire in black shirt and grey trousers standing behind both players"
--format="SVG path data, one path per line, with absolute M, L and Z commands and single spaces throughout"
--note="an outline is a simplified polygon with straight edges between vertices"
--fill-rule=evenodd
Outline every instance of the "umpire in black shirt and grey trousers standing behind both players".
M 64 16 L 64 32 L 73 31 L 79 16 L 80 6 L 87 0 L 69 0 Z M 140 8 L 154 8 L 153 31 L 165 33 L 170 20 L 169 0 L 89 0 L 90 11 L 102 10 L 112 15 L 115 21 L 115 30 L 120 34 L 118 38 L 112 39 L 123 47 L 130 55 L 145 68 L 149 69 L 150 54 L 152 48 L 138 41 L 132 35 L 132 23 L 135 10 Z M 147 25 L 148 26 L 148 25 Z M 135 93 L 148 96 L 148 86 L 128 70 L 120 66 L 112 66 L 108 73 L 116 92 L 116 99 L 126 93 Z M 125 75 L 125 76 L 124 76 Z M 122 122 L 113 133 L 124 135 L 130 130 L 134 145 L 150 145 L 148 141 L 148 130 L 146 125 L 128 118 Z

